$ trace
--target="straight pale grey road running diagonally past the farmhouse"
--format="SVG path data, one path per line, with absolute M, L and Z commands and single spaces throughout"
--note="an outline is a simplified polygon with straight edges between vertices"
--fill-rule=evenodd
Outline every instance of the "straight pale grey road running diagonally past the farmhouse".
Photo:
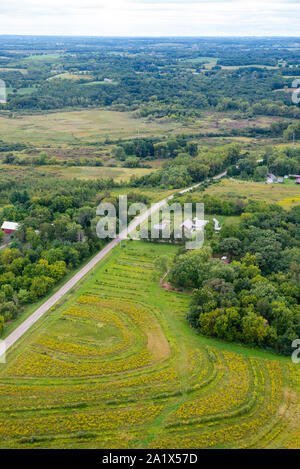
M 221 178 L 225 176 L 225 173 L 222 175 L 217 176 L 217 178 Z M 182 191 L 179 191 L 180 194 L 185 194 L 195 188 L 197 188 L 200 184 L 196 184 L 192 187 L 188 187 Z M 163 205 L 165 205 L 169 200 L 172 200 L 174 195 L 170 195 L 169 197 L 153 204 L 151 208 L 147 211 L 139 215 L 138 217 L 134 218 L 134 220 L 128 225 L 128 227 L 123 230 L 119 236 L 113 239 L 105 248 L 103 248 L 98 254 L 96 254 L 93 259 L 91 259 L 82 269 L 80 269 L 67 283 L 65 283 L 56 293 L 54 293 L 45 303 L 43 303 L 31 316 L 29 316 L 25 321 L 18 326 L 9 336 L 6 337 L 4 340 L 4 350 L 8 351 L 10 347 L 12 347 L 17 340 L 19 340 L 30 328 L 33 326 L 50 308 L 52 308 L 61 298 L 68 293 L 88 272 L 90 272 L 97 264 L 100 262 L 115 246 L 117 246 L 122 239 L 126 239 L 127 235 L 132 233 L 137 226 L 144 223 L 146 219 L 154 212 L 159 210 Z M 3 353 L 4 350 L 1 352 Z

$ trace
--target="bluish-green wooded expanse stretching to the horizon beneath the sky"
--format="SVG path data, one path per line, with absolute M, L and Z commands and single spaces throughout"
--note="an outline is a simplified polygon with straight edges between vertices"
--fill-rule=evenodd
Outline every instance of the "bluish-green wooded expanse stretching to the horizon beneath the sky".
M 295 43 L 59 37 L 20 42 L 2 36 L 1 78 L 9 90 L 3 109 L 112 106 L 149 119 L 193 118 L 216 109 L 297 118 L 300 110 L 284 92 L 299 74 Z

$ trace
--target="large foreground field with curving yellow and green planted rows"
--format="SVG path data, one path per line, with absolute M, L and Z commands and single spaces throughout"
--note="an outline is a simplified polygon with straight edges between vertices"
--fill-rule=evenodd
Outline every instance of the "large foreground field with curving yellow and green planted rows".
M 175 251 L 116 248 L 12 350 L 1 448 L 299 447 L 299 366 L 197 336 L 154 280 Z

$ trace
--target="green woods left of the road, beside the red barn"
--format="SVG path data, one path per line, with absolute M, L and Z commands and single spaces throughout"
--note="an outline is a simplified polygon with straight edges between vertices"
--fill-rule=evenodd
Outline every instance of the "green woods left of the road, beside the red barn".
M 96 206 L 102 200 L 117 204 L 107 190 L 111 180 L 69 181 L 69 187 L 55 178 L 25 178 L 19 187 L 17 182 L 9 191 L 7 184 L 0 189 L 6 197 L 0 223 L 20 225 L 0 252 L 0 333 L 6 321 L 101 249 L 105 240 L 96 235 Z M 129 199 L 135 201 L 136 195 Z

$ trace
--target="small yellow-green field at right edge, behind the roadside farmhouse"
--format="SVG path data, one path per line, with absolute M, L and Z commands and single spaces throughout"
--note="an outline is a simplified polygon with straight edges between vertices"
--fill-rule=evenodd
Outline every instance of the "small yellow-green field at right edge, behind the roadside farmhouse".
M 300 187 L 287 181 L 284 184 L 265 184 L 263 182 L 233 181 L 224 179 L 217 185 L 206 189 L 205 194 L 227 199 L 244 197 L 269 203 L 279 203 L 284 208 L 300 205 Z

